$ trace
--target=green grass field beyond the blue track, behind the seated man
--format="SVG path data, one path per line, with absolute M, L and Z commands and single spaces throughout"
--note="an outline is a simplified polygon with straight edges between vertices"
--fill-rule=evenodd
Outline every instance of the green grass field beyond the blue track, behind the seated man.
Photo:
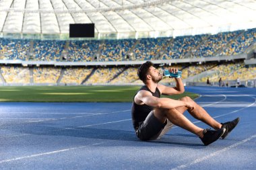
M 0 101 L 26 102 L 125 102 L 132 101 L 139 86 L 23 86 L 0 87 Z M 179 99 L 195 93 L 162 96 Z

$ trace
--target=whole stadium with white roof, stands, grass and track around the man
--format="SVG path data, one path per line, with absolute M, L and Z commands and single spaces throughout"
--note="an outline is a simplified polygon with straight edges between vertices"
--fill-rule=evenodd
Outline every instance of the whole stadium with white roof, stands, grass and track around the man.
M 254 0 L 0 0 L 1 169 L 254 169 L 255 15 Z M 131 101 L 148 60 L 240 128 L 212 148 L 178 126 L 139 142 Z

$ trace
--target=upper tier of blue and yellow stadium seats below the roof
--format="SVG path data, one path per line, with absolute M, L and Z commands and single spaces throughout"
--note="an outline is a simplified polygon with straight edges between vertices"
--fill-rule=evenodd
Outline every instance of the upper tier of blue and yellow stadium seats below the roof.
M 0 59 L 90 62 L 157 60 L 241 54 L 256 42 L 256 28 L 215 35 L 139 40 L 15 40 L 0 38 Z M 129 58 L 127 54 L 129 52 Z M 98 54 L 98 55 L 96 55 Z

